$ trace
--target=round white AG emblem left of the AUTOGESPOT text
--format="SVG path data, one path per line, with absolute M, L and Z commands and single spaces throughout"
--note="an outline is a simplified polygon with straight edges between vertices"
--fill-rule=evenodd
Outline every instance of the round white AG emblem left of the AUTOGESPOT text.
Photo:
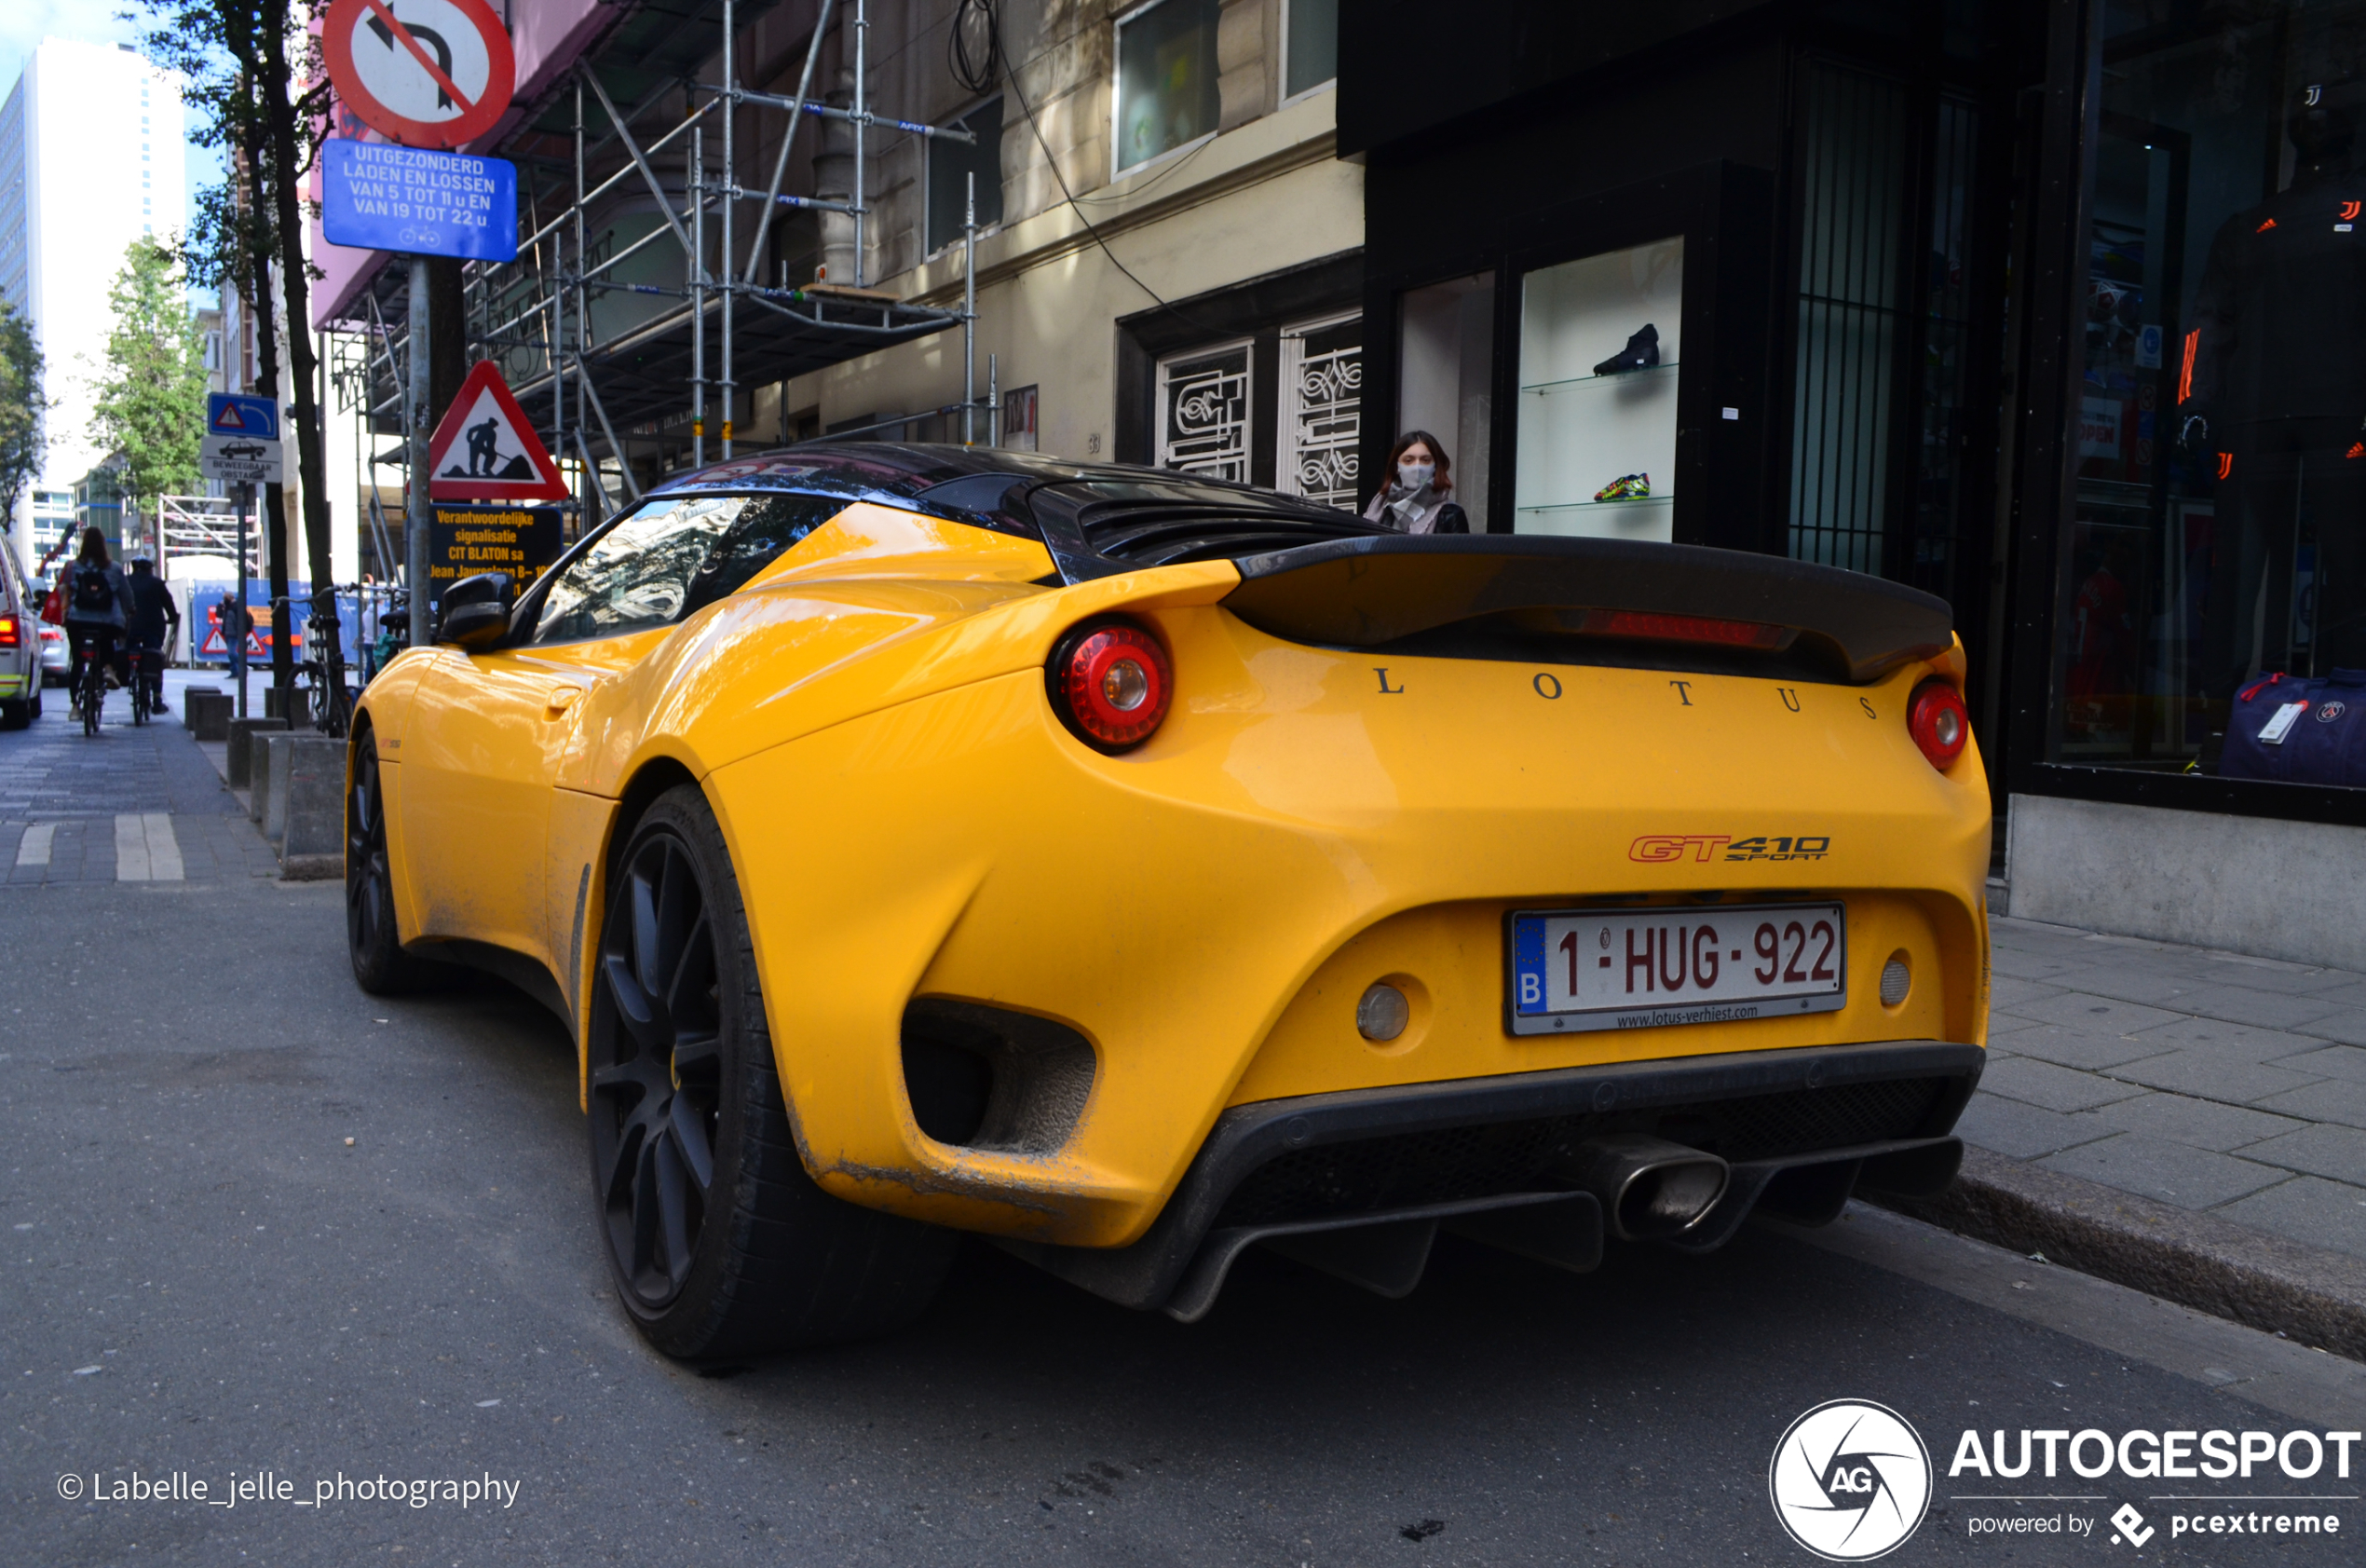
M 1774 1445 L 1767 1464 L 1774 1518 L 1831 1563 L 1864 1563 L 1900 1544 L 1931 1507 L 1931 1450 L 1888 1405 L 1817 1405 Z

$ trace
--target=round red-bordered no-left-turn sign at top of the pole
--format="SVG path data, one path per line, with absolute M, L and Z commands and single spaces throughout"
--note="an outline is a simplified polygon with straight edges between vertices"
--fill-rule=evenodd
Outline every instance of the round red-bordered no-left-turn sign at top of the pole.
M 518 85 L 485 0 L 331 0 L 322 54 L 338 99 L 402 147 L 466 147 Z

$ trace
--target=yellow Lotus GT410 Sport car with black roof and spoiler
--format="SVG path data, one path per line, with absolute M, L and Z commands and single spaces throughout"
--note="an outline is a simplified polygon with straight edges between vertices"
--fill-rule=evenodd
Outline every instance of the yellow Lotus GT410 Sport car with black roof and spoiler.
M 1961 679 L 1819 565 L 790 447 L 445 594 L 353 728 L 353 967 L 570 1024 L 686 1360 L 906 1320 L 958 1232 L 1183 1320 L 1252 1244 L 1708 1249 L 1954 1175 Z

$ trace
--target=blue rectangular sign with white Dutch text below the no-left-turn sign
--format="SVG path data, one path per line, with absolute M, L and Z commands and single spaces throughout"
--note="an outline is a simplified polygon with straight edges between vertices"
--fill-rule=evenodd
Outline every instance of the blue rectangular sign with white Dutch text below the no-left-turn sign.
M 319 144 L 319 227 L 331 246 L 516 260 L 518 166 L 331 137 Z

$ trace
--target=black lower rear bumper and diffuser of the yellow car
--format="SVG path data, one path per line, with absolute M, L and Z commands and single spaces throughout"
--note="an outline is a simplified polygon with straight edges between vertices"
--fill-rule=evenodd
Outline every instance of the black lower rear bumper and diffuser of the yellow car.
M 1098 1296 L 1185 1322 L 1214 1305 L 1226 1270 L 1256 1242 L 1306 1249 L 1323 1237 L 1327 1251 L 1308 1261 L 1384 1294 L 1401 1294 L 1386 1275 L 1403 1289 L 1420 1277 L 1439 1225 L 1590 1268 L 1602 1216 L 1564 1178 L 1569 1152 L 1607 1133 L 1656 1133 L 1732 1166 L 1718 1204 L 1670 1242 L 1708 1251 L 1760 1209 L 1827 1223 L 1860 1185 L 1945 1187 L 1961 1156 L 1950 1130 L 1985 1055 L 1886 1041 L 1240 1104 L 1131 1246 L 1001 1244 Z

